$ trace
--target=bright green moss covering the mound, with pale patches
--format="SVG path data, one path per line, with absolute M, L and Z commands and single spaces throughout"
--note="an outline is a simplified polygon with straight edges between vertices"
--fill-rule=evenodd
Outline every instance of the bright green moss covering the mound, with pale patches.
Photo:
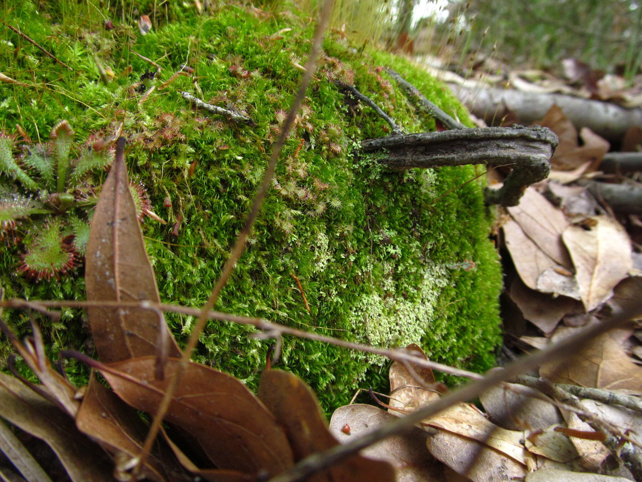
M 202 305 L 261 181 L 300 80 L 293 62 L 305 62 L 312 27 L 290 12 L 258 13 L 231 4 L 197 17 L 184 4 L 170 2 L 158 15 L 160 27 L 143 37 L 129 12 L 125 23 L 114 20 L 116 28 L 105 31 L 101 15 L 75 2 L 48 12 L 28 1 L 8 4 L 4 18 L 21 19 L 27 35 L 74 70 L 4 31 L 3 73 L 31 87 L 0 85 L 0 127 L 13 132 L 20 123 L 38 138 L 66 118 L 81 141 L 112 134 L 122 121 L 131 175 L 148 189 L 152 210 L 168 220 L 166 226 L 146 220 L 143 227 L 161 298 Z M 72 13 L 75 19 L 69 18 Z M 116 19 L 121 12 L 102 13 Z M 284 39 L 269 38 L 286 27 L 292 30 Z M 363 53 L 333 35 L 324 51 L 319 80 L 308 90 L 247 250 L 216 308 L 377 346 L 421 342 L 437 361 L 489 368 L 499 336 L 501 272 L 487 240 L 489 213 L 480 184 L 453 189 L 473 177 L 473 166 L 399 173 L 384 170 L 376 158 L 354 157 L 360 139 L 385 136 L 388 127 L 369 107 L 348 102 L 332 80 L 354 83 L 407 132 L 433 130 L 434 121 L 408 102 L 383 66 L 392 66 L 465 123 L 467 114 L 441 84 L 402 58 Z M 138 105 L 146 87 L 134 84 L 151 66 L 134 52 L 162 59 L 162 80 L 187 63 L 206 102 L 234 105 L 256 127 L 191 109 L 178 94 L 194 91 L 185 76 Z M 115 73 L 125 73 L 103 85 L 94 55 Z M 145 82 L 159 86 L 162 80 Z M 164 207 L 167 196 L 171 208 Z M 33 285 L 17 276 L 16 253 L 17 247 L 9 246 L 0 254 L 0 280 L 8 296 L 84 298 L 81 277 Z M 470 262 L 474 268 L 465 271 Z M 11 316 L 24 334 L 24 314 Z M 167 319 L 184 343 L 194 319 L 176 314 Z M 54 354 L 82 346 L 89 337 L 71 310 L 56 325 L 42 323 Z M 195 359 L 254 386 L 273 342 L 252 338 L 253 331 L 209 323 Z M 6 357 L 8 347 L 2 350 Z M 358 386 L 383 383 L 383 362 L 285 337 L 280 364 L 310 382 L 331 408 L 345 403 Z M 85 376 L 82 367 L 69 368 L 77 380 Z

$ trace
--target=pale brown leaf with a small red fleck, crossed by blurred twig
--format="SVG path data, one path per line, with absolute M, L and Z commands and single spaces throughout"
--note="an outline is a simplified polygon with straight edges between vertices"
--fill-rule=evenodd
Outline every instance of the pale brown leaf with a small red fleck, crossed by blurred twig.
M 372 405 L 353 404 L 336 409 L 330 420 L 330 433 L 340 443 L 377 429 L 380 425 L 394 420 L 395 416 Z M 345 425 L 350 433 L 342 431 Z M 385 460 L 395 468 L 397 482 L 442 482 L 442 463 L 435 460 L 426 449 L 428 434 L 414 427 L 402 435 L 388 437 L 370 445 L 360 453 L 374 460 Z

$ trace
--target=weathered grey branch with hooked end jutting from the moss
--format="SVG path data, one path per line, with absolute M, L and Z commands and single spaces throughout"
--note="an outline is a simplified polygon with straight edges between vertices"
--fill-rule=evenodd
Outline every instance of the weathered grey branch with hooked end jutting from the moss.
M 489 204 L 504 206 L 516 206 L 526 187 L 546 178 L 556 147 L 557 136 L 550 129 L 521 125 L 386 136 L 361 143 L 363 152 L 387 152 L 379 162 L 394 169 L 512 165 L 504 185 L 485 193 Z

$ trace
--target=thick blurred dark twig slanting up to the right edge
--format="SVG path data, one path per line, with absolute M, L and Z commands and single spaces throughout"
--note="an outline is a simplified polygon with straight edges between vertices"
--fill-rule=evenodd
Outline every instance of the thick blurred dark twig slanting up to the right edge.
M 326 469 L 332 465 L 344 460 L 352 454 L 369 447 L 373 443 L 379 442 L 389 436 L 396 435 L 408 431 L 413 425 L 418 424 L 424 418 L 433 416 L 436 413 L 452 406 L 457 402 L 464 400 L 471 400 L 478 397 L 483 391 L 490 387 L 512 379 L 544 362 L 550 362 L 564 357 L 569 353 L 575 353 L 580 346 L 584 346 L 588 341 L 596 336 L 599 336 L 613 328 L 625 325 L 632 317 L 642 315 L 642 303 L 638 303 L 635 307 L 626 310 L 622 314 L 604 319 L 600 323 L 587 326 L 577 334 L 572 335 L 559 343 L 551 344 L 539 352 L 532 355 L 522 357 L 515 362 L 507 365 L 503 370 L 497 370 L 489 373 L 483 377 L 482 380 L 472 382 L 458 391 L 446 395 L 444 398 L 435 400 L 431 404 L 421 407 L 417 411 L 411 413 L 404 418 L 399 418 L 392 422 L 381 425 L 378 429 L 365 434 L 359 438 L 355 438 L 352 442 L 345 445 L 337 445 L 332 449 L 323 452 L 317 452 L 311 456 L 306 457 L 304 460 L 299 461 L 291 469 L 281 472 L 281 474 L 270 479 L 270 482 L 297 482 L 308 478 L 311 474 L 319 470 Z

